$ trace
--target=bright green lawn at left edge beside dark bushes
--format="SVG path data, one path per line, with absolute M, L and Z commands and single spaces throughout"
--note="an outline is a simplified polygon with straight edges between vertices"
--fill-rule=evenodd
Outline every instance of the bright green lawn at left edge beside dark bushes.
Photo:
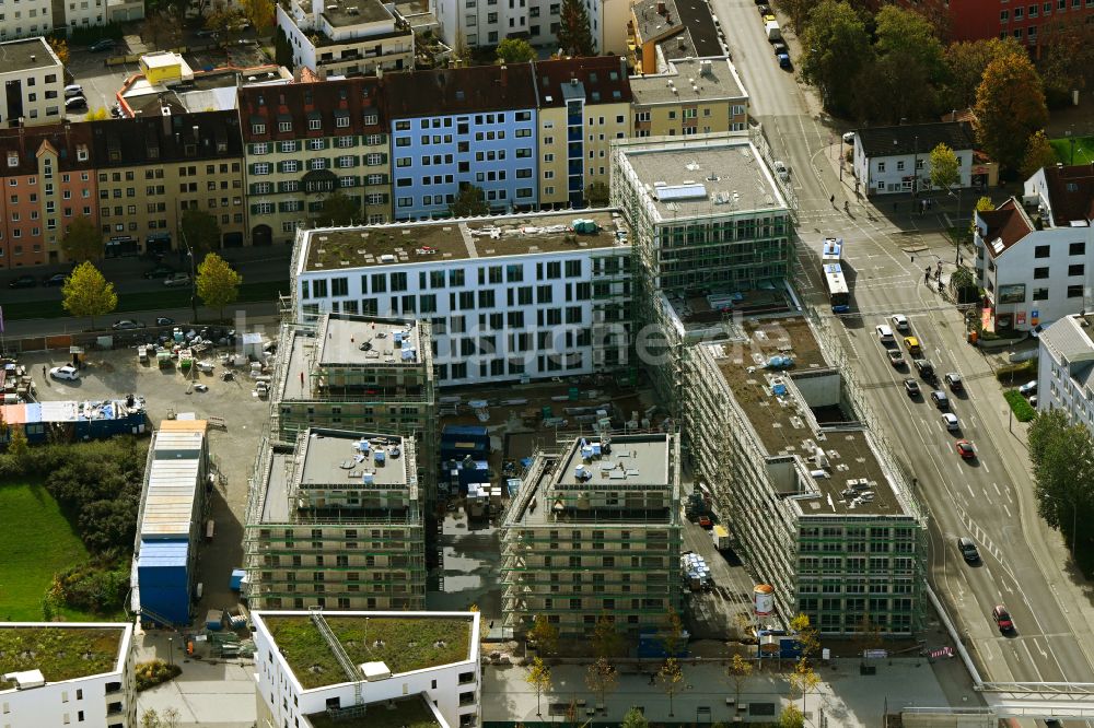
M 88 559 L 88 551 L 40 485 L 0 485 L 0 620 L 40 621 L 54 574 Z M 69 620 L 101 620 L 62 610 Z

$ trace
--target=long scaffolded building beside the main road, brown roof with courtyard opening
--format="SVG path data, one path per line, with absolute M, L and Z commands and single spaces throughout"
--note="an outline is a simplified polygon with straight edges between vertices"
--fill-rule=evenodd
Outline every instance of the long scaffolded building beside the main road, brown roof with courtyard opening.
M 804 318 L 747 321 L 686 357 L 683 423 L 712 509 L 783 623 L 924 626 L 927 525 L 841 362 Z

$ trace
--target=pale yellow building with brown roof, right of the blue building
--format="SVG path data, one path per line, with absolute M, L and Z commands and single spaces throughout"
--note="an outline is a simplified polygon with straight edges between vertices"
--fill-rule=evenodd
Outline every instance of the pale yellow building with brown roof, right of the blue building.
M 538 61 L 539 206 L 582 207 L 593 184 L 607 195 L 612 140 L 630 136 L 630 84 L 622 58 Z M 601 202 L 604 204 L 606 199 Z

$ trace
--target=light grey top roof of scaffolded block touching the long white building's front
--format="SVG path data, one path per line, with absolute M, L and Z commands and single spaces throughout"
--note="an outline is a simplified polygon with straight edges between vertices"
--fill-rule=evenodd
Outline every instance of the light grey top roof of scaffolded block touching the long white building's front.
M 421 364 L 421 337 L 414 320 L 393 321 L 331 314 L 319 324 L 321 366 Z

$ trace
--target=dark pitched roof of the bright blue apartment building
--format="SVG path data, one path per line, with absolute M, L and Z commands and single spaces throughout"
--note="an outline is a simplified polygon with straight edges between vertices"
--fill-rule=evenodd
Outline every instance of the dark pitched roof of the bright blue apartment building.
M 392 118 L 536 108 L 532 63 L 385 73 Z

